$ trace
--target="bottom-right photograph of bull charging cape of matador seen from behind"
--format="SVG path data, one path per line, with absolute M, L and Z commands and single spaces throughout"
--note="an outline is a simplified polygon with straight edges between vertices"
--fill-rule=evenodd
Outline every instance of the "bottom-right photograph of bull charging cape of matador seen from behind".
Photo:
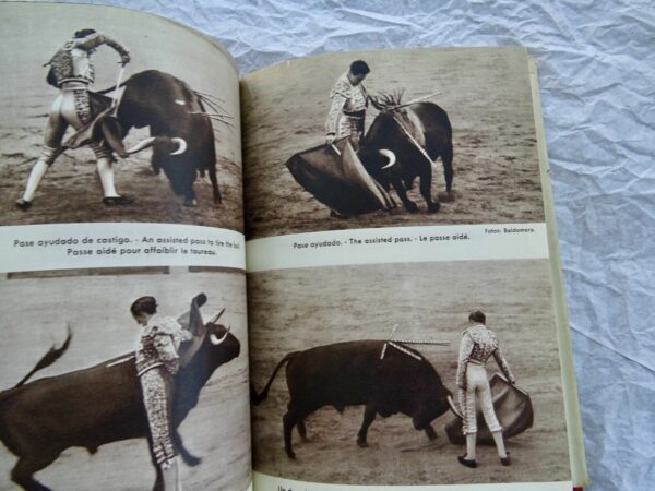
M 249 274 L 253 470 L 569 481 L 550 285 L 547 260 Z

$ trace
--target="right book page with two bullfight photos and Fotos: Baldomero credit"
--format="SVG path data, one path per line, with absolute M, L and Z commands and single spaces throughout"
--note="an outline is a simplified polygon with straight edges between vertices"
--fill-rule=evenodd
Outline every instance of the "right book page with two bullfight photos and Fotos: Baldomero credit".
M 526 51 L 324 55 L 241 98 L 254 489 L 571 490 Z

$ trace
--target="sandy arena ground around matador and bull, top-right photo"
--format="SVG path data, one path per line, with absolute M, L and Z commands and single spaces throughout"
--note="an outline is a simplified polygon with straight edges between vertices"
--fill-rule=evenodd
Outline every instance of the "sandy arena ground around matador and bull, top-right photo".
M 535 125 L 522 51 L 444 49 L 327 55 L 255 72 L 242 84 L 243 161 L 249 239 L 317 230 L 409 225 L 543 221 Z M 433 93 L 453 127 L 454 203 L 429 215 L 403 208 L 347 220 L 306 192 L 284 165 L 295 153 L 324 143 L 330 89 L 361 58 L 370 94 L 405 88 L 404 100 Z M 377 110 L 369 108 L 367 127 Z M 441 160 L 432 196 L 444 191 Z M 395 192 L 392 192 L 395 196 Z M 400 204 L 400 200 L 396 199 Z

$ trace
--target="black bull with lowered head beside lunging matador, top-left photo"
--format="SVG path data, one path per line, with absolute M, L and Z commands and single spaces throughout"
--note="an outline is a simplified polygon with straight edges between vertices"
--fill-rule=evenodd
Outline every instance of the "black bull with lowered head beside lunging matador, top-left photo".
M 196 203 L 193 183 L 200 173 L 209 173 L 214 202 L 221 202 L 216 180 L 214 131 L 206 116 L 203 99 L 181 80 L 157 70 L 146 70 L 123 82 L 124 92 L 116 116 L 109 108 L 111 99 L 91 93 L 94 113 L 102 113 L 88 131 L 82 131 L 67 142 L 76 147 L 90 140 L 104 139 L 122 158 L 145 147 L 153 147 L 151 164 L 155 173 L 164 170 L 176 195 L 186 205 Z M 132 128 L 150 127 L 145 144 L 126 149 L 122 140 Z M 182 142 L 183 141 L 183 142 Z

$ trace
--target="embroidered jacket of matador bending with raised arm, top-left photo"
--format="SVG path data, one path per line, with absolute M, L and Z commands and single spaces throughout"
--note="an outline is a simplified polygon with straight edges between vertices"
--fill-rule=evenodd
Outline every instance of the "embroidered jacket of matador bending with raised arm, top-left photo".
M 93 84 L 95 72 L 90 55 L 102 45 L 114 48 L 123 62 L 129 61 L 129 51 L 123 46 L 108 36 L 95 33 L 81 39 L 71 39 L 52 56 L 45 64 L 50 65 L 48 82 L 57 87 L 66 82 Z

